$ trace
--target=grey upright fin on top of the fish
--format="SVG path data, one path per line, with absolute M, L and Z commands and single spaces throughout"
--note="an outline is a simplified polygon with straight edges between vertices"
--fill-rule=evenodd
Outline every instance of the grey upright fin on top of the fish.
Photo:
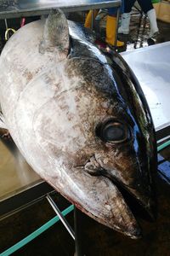
M 45 22 L 43 40 L 40 44 L 40 53 L 54 52 L 68 55 L 69 26 L 65 14 L 60 9 L 52 10 Z

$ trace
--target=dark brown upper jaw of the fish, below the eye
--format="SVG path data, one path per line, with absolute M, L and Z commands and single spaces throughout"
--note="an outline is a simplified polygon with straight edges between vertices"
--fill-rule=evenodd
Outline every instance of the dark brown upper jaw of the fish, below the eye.
M 98 163 L 98 171 L 95 169 L 95 172 L 109 177 L 120 188 L 126 190 L 129 195 L 133 196 L 133 199 L 139 202 L 150 218 L 155 219 L 156 195 L 153 174 L 156 166 L 153 163 L 154 158 L 146 155 L 138 156 L 133 149 L 129 154 L 127 148 L 130 148 L 129 145 L 124 144 L 123 149 L 116 147 L 116 149 L 100 150 L 95 154 L 95 161 Z

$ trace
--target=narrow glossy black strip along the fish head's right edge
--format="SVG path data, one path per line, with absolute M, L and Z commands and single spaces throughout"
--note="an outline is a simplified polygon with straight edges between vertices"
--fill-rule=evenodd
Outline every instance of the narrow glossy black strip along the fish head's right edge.
M 155 177 L 157 172 L 157 149 L 156 149 L 156 131 L 151 117 L 150 108 L 146 102 L 144 92 L 139 85 L 132 69 L 128 67 L 127 62 L 121 55 L 112 55 L 113 66 L 120 78 L 123 80 L 124 89 L 127 93 L 126 102 L 128 102 L 129 114 L 135 120 L 133 126 L 136 140 L 133 147 L 139 162 L 141 163 L 141 183 L 143 183 L 146 196 L 150 197 L 150 207 L 146 207 L 150 216 L 156 217 L 156 187 Z M 136 95 L 136 96 L 135 96 Z M 139 142 L 136 148 L 135 143 Z M 147 195 L 148 194 L 148 195 Z

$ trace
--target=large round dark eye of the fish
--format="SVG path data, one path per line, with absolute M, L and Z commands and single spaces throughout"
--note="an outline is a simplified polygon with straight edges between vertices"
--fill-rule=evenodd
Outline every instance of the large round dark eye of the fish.
M 130 137 L 130 131 L 126 124 L 110 119 L 97 127 L 96 135 L 105 143 L 122 143 Z

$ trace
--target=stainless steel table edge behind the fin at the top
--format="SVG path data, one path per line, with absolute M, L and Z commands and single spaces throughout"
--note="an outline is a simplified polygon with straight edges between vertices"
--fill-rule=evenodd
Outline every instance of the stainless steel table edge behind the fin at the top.
M 64 12 L 88 9 L 120 8 L 121 0 L 0 0 L 0 19 L 48 15 L 51 9 Z

